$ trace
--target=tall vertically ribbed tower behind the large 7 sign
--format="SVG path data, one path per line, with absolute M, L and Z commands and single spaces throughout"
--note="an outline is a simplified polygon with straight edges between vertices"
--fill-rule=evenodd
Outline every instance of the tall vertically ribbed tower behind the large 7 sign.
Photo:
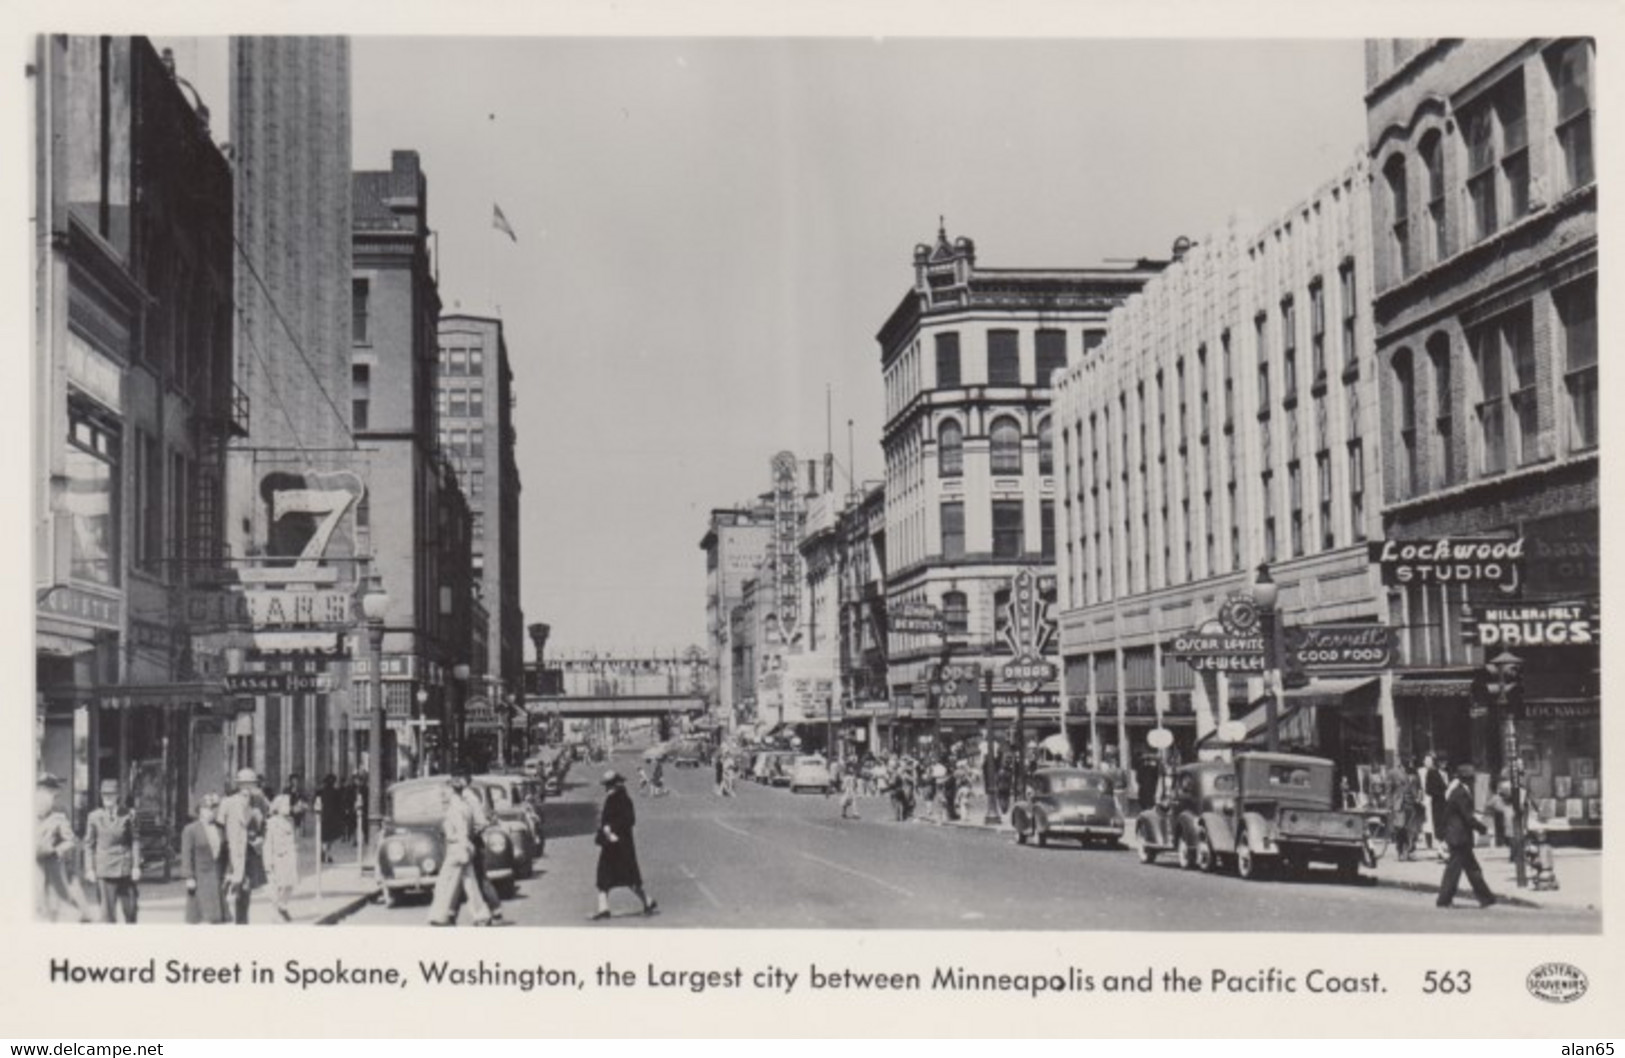
M 232 37 L 231 156 L 234 366 L 254 410 L 228 453 L 234 574 L 249 593 L 354 593 L 364 475 L 349 423 L 349 41 Z M 317 687 L 236 697 L 234 764 L 278 785 L 301 775 L 307 788 L 359 767 L 353 629 L 338 616 L 322 627 L 255 622 L 247 648 L 229 650 L 234 674 Z

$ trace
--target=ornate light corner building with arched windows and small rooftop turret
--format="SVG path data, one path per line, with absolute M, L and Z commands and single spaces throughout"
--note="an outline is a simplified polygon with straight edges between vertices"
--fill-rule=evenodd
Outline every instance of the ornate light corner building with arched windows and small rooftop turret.
M 1089 356 L 1107 315 L 1164 262 L 1123 268 L 978 268 L 970 239 L 918 245 L 915 278 L 878 335 L 886 382 L 886 601 L 941 611 L 947 645 L 1001 644 L 1011 577 L 1055 564 L 1050 380 Z M 894 634 L 890 704 L 925 730 L 920 689 L 944 639 Z M 1053 647 L 1051 647 L 1053 648 Z M 1008 696 L 1003 679 L 996 697 Z M 1040 687 L 1030 731 L 1060 723 L 1060 684 Z M 1012 715 L 1004 707 L 999 717 Z M 982 715 L 951 718 L 968 730 Z

